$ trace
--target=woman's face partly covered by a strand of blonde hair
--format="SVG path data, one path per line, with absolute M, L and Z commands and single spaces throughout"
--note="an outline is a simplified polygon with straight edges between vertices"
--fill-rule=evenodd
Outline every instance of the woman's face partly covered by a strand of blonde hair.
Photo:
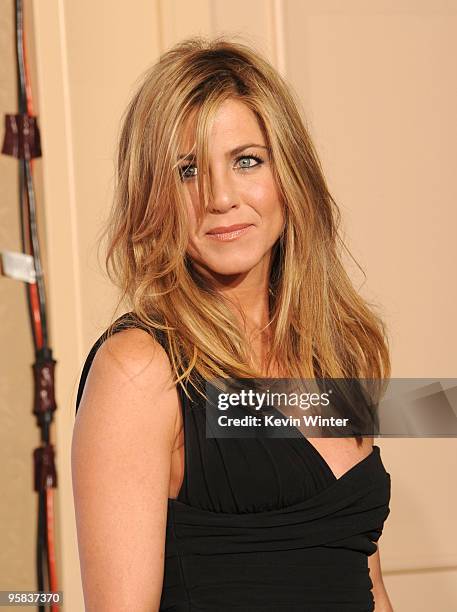
M 184 134 L 181 155 L 188 154 L 192 131 Z M 192 158 L 179 166 L 188 203 L 190 240 L 187 253 L 194 265 L 224 283 L 231 275 L 267 278 L 271 249 L 284 226 L 267 143 L 255 114 L 242 102 L 226 100 L 219 108 L 208 143 L 213 190 L 202 224 L 197 226 L 198 169 Z M 238 232 L 210 234 L 217 228 L 247 225 Z M 224 232 L 219 229 L 218 232 Z

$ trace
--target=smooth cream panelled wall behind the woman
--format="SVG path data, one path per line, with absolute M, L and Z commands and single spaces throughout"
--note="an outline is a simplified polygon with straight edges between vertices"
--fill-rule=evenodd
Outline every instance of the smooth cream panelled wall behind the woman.
M 110 204 L 119 119 L 136 78 L 162 50 L 195 33 L 240 35 L 263 51 L 300 97 L 366 282 L 353 265 L 351 273 L 363 294 L 381 304 L 389 326 L 393 375 L 455 377 L 457 6 L 439 0 L 40 0 L 33 17 L 58 360 L 59 579 L 65 609 L 73 612 L 83 610 L 70 474 L 74 399 L 83 358 L 114 304 L 96 241 Z M 12 191 L 11 227 L 14 203 Z M 18 305 L 23 334 L 14 336 L 11 384 L 31 356 L 23 292 L 6 280 L 2 290 L 7 283 L 5 303 Z M 4 321 L 11 316 L 3 314 Z M 12 397 L 4 386 L 1 392 L 2 402 Z M 23 393 L 14 399 L 22 410 L 30 403 L 30 391 Z M 24 427 L 31 428 L 30 420 L 24 416 Z M 457 609 L 456 442 L 377 443 L 393 483 L 380 550 L 394 608 Z M 25 478 L 31 446 L 27 439 L 16 452 Z M 14 494 L 18 501 L 22 493 Z M 32 514 L 21 516 L 29 530 Z M 22 563 L 30 569 L 32 559 L 25 547 Z

